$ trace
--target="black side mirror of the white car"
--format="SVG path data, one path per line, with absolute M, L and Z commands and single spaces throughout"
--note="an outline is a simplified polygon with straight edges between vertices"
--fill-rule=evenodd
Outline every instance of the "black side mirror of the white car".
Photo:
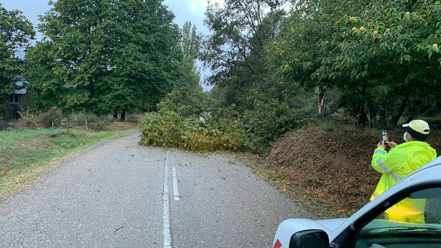
M 299 231 L 291 236 L 289 248 L 329 248 L 329 237 L 323 230 Z

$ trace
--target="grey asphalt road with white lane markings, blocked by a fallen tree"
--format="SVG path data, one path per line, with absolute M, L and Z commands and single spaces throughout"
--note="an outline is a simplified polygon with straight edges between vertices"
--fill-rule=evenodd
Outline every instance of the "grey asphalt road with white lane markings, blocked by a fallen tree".
M 1 247 L 271 247 L 310 217 L 230 155 L 138 145 L 89 149 L 0 199 Z

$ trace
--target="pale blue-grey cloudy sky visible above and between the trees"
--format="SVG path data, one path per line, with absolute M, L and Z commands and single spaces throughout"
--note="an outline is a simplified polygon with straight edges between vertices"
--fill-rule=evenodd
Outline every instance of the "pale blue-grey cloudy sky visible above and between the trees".
M 38 16 L 46 13 L 50 7 L 48 0 L 1 0 L 1 3 L 7 10 L 18 9 L 37 26 L 39 23 Z M 186 21 L 191 21 L 196 25 L 197 31 L 204 35 L 209 34 L 206 27 L 203 26 L 203 19 L 208 0 L 165 0 L 164 5 L 176 16 L 175 23 L 182 27 Z M 211 0 L 211 3 L 223 3 L 223 0 Z M 37 34 L 37 41 L 42 39 L 41 34 Z M 197 63 L 201 69 L 201 82 L 211 73 L 209 69 L 204 69 L 200 62 Z M 202 85 L 204 91 L 211 89 L 209 86 Z

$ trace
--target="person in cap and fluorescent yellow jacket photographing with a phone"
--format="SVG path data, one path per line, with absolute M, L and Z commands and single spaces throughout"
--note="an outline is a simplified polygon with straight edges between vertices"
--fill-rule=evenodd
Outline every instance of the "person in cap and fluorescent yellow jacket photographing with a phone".
M 372 167 L 383 175 L 371 197 L 373 200 L 402 178 L 411 174 L 427 162 L 436 158 L 436 151 L 424 142 L 430 132 L 427 122 L 413 120 L 404 124 L 406 128 L 404 143 L 397 145 L 388 142 L 391 147 L 386 151 L 386 144 L 378 143 L 372 156 Z M 424 223 L 425 199 L 405 198 L 385 211 L 385 219 L 410 223 Z

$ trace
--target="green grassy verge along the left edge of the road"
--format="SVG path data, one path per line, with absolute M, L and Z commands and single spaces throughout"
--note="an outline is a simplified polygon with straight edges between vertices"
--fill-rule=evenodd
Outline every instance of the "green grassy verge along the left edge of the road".
M 124 131 L 20 129 L 0 132 L 0 196 L 16 192 L 54 168 L 61 158 L 101 141 L 124 135 Z

